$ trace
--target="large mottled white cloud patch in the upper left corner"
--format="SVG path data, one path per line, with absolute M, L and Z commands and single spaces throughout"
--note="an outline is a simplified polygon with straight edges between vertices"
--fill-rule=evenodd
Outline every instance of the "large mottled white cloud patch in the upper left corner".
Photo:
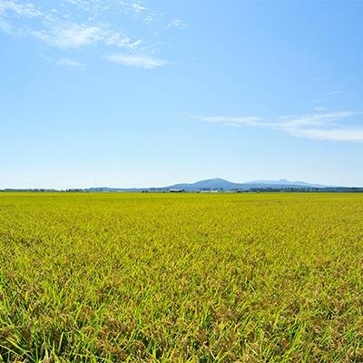
M 44 10 L 32 3 L 18 4 L 15 1 L 0 0 L 0 30 L 12 34 L 30 34 L 45 44 L 61 49 L 95 43 L 137 48 L 142 44 L 142 39 L 132 39 L 124 34 L 119 24 L 104 23 L 105 15 L 115 9 L 107 4 L 122 6 L 117 1 L 65 0 L 65 3 L 56 8 Z M 137 13 L 147 10 L 141 2 L 129 4 L 127 7 Z M 39 19 L 30 23 L 28 20 L 35 16 Z M 15 18 L 20 17 L 23 22 L 15 22 Z M 140 20 L 133 21 L 140 23 Z

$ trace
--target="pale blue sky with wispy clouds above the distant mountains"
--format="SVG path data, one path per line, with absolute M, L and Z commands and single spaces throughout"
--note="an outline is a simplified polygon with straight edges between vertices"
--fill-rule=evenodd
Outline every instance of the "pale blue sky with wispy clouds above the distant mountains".
M 363 186 L 363 2 L 0 0 L 0 189 Z

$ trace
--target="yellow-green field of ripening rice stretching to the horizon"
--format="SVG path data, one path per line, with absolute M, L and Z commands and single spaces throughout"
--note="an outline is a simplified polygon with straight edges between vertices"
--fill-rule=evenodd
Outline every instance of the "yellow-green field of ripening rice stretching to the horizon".
M 0 193 L 0 361 L 361 362 L 363 194 Z

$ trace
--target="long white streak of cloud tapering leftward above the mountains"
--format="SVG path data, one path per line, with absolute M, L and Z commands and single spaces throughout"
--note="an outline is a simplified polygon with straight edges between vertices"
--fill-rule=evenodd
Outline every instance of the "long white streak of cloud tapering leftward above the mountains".
M 363 126 L 357 127 L 351 123 L 342 123 L 343 120 L 362 114 L 351 111 L 314 113 L 302 116 L 283 116 L 274 122 L 265 122 L 256 116 L 192 116 L 192 118 L 208 123 L 270 128 L 313 140 L 363 142 Z

